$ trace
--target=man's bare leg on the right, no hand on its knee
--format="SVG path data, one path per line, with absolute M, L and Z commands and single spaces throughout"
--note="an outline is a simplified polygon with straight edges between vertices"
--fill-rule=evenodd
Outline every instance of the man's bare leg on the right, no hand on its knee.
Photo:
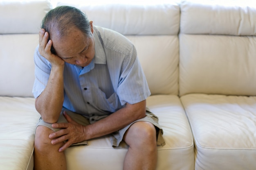
M 135 122 L 124 135 L 129 145 L 124 170 L 155 170 L 157 141 L 155 126 L 150 122 Z

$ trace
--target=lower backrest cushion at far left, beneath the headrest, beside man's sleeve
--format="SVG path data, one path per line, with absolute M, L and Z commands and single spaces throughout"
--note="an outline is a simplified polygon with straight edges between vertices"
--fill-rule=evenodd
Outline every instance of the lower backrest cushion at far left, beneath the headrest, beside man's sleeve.
M 38 34 L 0 35 L 0 96 L 33 96 Z

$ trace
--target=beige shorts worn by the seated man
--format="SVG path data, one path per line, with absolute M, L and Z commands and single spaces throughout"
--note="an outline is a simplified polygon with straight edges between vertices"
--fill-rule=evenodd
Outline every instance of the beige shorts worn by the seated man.
M 60 115 L 57 123 L 67 122 L 67 120 L 63 116 L 63 111 L 61 112 L 61 115 Z M 79 124 L 82 124 L 83 126 L 86 126 L 86 125 L 90 124 L 90 121 L 88 120 L 88 118 L 85 118 L 81 114 L 74 113 L 74 112 L 69 111 L 69 110 L 65 110 L 65 111 L 72 118 L 72 120 L 74 120 L 75 122 L 77 122 Z M 157 116 L 155 116 L 153 113 L 151 113 L 148 110 L 146 111 L 146 116 L 144 118 L 136 120 L 136 121 L 132 122 L 131 124 L 129 124 L 128 126 L 124 127 L 123 129 L 120 129 L 119 131 L 116 131 L 116 132 L 112 133 L 111 137 L 110 137 L 112 146 L 119 146 L 119 144 L 123 140 L 124 134 L 128 130 L 128 128 L 133 123 L 139 122 L 139 121 L 151 122 L 155 126 L 155 128 L 157 130 L 157 145 L 164 146 L 165 142 L 164 142 L 164 138 L 162 136 L 163 135 L 162 127 L 158 124 Z M 40 120 L 39 120 L 38 124 L 36 125 L 36 127 L 37 126 L 46 126 L 49 129 L 52 129 L 54 132 L 61 130 L 61 129 L 53 128 L 52 124 L 44 122 L 42 118 L 40 118 Z M 72 146 L 75 146 L 75 145 L 88 145 L 88 142 L 87 141 L 83 141 L 83 142 L 79 142 L 79 143 L 76 143 L 76 144 L 72 144 Z

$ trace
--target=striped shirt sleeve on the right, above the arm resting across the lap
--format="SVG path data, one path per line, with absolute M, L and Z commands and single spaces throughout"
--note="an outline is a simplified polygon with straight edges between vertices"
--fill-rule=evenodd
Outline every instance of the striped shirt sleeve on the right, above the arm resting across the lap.
M 121 66 L 117 95 L 121 105 L 126 102 L 135 104 L 150 96 L 148 83 L 133 45 L 130 54 L 125 57 Z

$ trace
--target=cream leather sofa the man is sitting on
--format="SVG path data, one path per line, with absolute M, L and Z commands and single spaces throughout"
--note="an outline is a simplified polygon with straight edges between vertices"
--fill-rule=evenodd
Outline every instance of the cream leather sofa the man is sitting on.
M 256 169 L 256 5 L 250 3 L 68 4 L 135 44 L 152 94 L 147 105 L 164 129 L 157 170 Z M 47 0 L 0 0 L 1 170 L 33 169 L 40 118 L 31 93 L 33 54 L 52 8 Z M 121 170 L 126 152 L 126 144 L 112 148 L 106 136 L 65 154 L 68 170 Z

